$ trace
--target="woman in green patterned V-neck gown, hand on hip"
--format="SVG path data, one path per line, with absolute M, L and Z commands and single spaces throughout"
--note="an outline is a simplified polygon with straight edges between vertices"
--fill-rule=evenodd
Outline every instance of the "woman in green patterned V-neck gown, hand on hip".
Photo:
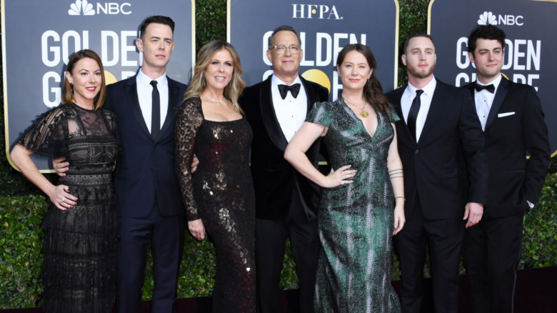
M 391 110 L 367 46 L 338 54 L 343 91 L 313 105 L 285 158 L 321 189 L 316 312 L 400 312 L 391 287 L 392 236 L 405 222 L 403 172 Z M 324 176 L 305 151 L 319 136 L 333 169 Z

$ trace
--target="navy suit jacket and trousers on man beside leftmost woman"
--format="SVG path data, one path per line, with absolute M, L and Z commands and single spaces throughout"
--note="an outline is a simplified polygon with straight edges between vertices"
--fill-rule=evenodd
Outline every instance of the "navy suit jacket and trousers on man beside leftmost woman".
M 175 310 L 184 245 L 184 207 L 174 174 L 174 119 L 186 85 L 168 79 L 169 109 L 158 138 L 141 114 L 136 76 L 107 86 L 104 107 L 118 116 L 121 153 L 114 185 L 120 219 L 118 312 L 139 312 L 146 253 L 152 241 L 155 290 L 152 311 Z

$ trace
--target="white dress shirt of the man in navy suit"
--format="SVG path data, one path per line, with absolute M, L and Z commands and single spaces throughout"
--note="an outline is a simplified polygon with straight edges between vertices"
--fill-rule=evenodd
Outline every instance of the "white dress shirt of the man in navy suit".
M 151 132 L 151 113 L 153 111 L 152 80 L 156 80 L 156 89 L 159 90 L 159 96 L 161 97 L 161 127 L 166 119 L 166 112 L 169 110 L 169 81 L 166 79 L 166 72 L 158 79 L 150 79 L 140 70 L 136 77 L 137 99 L 139 99 L 141 114 L 143 114 L 149 132 Z

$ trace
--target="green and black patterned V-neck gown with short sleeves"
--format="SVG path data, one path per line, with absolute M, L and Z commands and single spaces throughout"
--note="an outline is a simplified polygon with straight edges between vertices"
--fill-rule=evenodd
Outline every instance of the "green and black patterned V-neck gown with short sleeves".
M 373 136 L 342 98 L 316 103 L 306 119 L 328 126 L 321 142 L 333 169 L 356 169 L 352 184 L 321 189 L 316 312 L 401 310 L 391 287 L 394 196 L 387 169 L 398 116 L 377 115 Z

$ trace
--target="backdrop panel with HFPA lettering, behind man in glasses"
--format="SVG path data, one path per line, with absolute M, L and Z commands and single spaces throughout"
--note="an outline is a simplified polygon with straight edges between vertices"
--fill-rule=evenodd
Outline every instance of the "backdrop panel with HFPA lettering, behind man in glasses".
M 249 86 L 272 74 L 267 59 L 269 36 L 281 25 L 301 37 L 300 74 L 329 89 L 330 99 L 342 89 L 336 56 L 347 44 L 365 44 L 377 61 L 383 90 L 396 86 L 398 1 L 261 1 L 229 0 L 228 40 L 240 54 L 243 79 Z

